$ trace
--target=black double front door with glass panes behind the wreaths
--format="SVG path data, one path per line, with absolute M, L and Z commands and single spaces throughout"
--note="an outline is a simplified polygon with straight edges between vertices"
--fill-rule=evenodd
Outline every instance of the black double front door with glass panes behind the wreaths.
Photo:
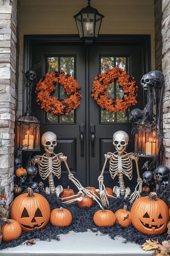
M 80 105 L 69 115 L 56 116 L 46 113 L 36 103 L 36 93 L 32 93 L 32 108 L 34 115 L 40 121 L 40 136 L 47 131 L 52 131 L 57 135 L 57 146 L 54 153 L 62 152 L 67 156 L 67 163 L 83 186 L 95 186 L 98 188 L 97 178 L 100 175 L 104 164 L 104 154 L 115 152 L 113 146 L 113 134 L 118 130 L 126 131 L 129 135 L 129 145 L 127 151 L 131 152 L 131 124 L 128 117 L 131 108 L 124 113 L 110 113 L 102 110 L 96 101 L 91 97 L 91 90 L 94 78 L 97 74 L 104 73 L 107 68 L 120 67 L 127 73 L 133 75 L 138 84 L 138 103 L 132 108 L 143 107 L 143 94 L 140 86 L 142 73 L 142 54 L 141 45 L 138 43 L 125 44 L 104 44 L 84 47 L 83 45 L 73 45 L 64 43 L 35 43 L 32 47 L 32 65 L 43 62 L 42 68 L 36 71 L 37 81 L 47 72 L 65 72 L 77 79 L 81 87 L 82 98 Z M 107 89 L 109 97 L 112 99 L 122 98 L 123 91 L 115 81 Z M 68 97 L 62 87 L 56 84 L 53 97 L 62 100 Z M 80 126 L 81 124 L 81 126 Z M 83 126 L 84 124 L 84 126 Z M 80 129 L 84 129 L 83 154 L 82 143 L 80 141 Z M 95 135 L 95 136 L 94 136 Z M 41 137 L 40 137 L 41 138 Z M 95 138 L 95 139 L 94 139 Z M 41 153 L 44 148 L 41 145 Z M 68 173 L 62 162 L 62 174 L 60 180 L 54 178 L 55 186 L 68 185 L 74 188 L 68 179 Z M 40 181 L 39 174 L 36 181 Z M 46 180 L 45 186 L 48 185 Z M 130 186 L 133 190 L 137 183 L 136 168 L 134 166 L 133 179 L 129 184 L 125 177 L 125 186 Z M 112 187 L 117 185 L 117 178 L 114 180 L 109 174 L 109 162 L 104 173 L 105 186 Z

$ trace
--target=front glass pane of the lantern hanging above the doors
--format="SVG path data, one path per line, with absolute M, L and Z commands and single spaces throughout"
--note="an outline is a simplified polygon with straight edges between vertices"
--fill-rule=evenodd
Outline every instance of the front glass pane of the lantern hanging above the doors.
M 94 13 L 83 13 L 83 34 L 84 37 L 94 37 Z

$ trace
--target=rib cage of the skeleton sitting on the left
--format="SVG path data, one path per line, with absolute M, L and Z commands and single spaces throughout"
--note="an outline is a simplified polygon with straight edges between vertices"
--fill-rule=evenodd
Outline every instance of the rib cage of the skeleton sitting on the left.
M 61 177 L 61 162 L 60 162 L 60 155 L 59 154 L 50 154 L 45 153 L 41 156 L 39 159 L 38 167 L 39 167 L 39 173 L 41 175 L 42 179 L 48 178 L 48 176 L 52 173 L 54 176 L 56 176 L 58 179 Z

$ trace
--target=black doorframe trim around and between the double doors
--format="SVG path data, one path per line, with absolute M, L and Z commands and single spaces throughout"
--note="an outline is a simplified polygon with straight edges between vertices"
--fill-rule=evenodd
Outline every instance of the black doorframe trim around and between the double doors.
M 79 35 L 24 35 L 24 73 L 32 66 L 32 46 L 35 44 L 44 43 L 64 43 L 69 45 L 83 45 L 80 41 Z M 142 57 L 142 74 L 146 74 L 151 70 L 151 45 L 150 35 L 99 35 L 95 44 L 114 44 L 114 43 L 138 43 L 141 45 L 141 57 Z M 86 47 L 86 105 L 88 104 L 88 62 L 89 51 Z M 143 102 L 146 103 L 146 99 L 143 96 Z M 26 109 L 26 95 L 23 91 L 23 112 Z M 86 108 L 87 109 L 87 108 Z M 89 111 L 89 110 L 88 110 Z M 89 134 L 89 112 L 86 111 L 86 136 Z M 86 138 L 86 155 L 89 150 L 89 139 Z M 89 158 L 86 162 L 86 183 L 89 184 Z

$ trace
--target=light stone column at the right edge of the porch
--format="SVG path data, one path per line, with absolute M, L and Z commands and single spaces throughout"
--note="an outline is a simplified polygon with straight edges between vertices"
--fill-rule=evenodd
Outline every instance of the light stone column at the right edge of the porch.
M 170 167 L 170 0 L 162 1 L 162 12 L 162 70 L 165 76 L 163 95 L 164 165 Z

